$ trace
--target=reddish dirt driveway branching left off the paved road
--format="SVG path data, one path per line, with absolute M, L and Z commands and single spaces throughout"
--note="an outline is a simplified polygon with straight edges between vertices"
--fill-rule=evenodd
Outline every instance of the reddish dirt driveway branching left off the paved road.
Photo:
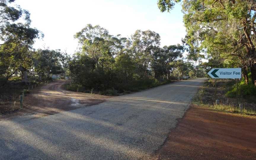
M 109 98 L 109 96 L 67 91 L 63 88 L 63 84 L 68 82 L 65 80 L 56 80 L 33 89 L 30 94 L 25 95 L 24 109 L 3 115 L 0 117 L 0 120 L 23 115 L 33 115 L 33 118 L 53 115 L 61 111 L 96 105 Z

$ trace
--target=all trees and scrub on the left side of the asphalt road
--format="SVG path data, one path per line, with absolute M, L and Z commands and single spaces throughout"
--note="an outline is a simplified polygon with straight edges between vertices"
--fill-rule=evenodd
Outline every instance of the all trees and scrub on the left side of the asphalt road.
M 116 95 L 206 74 L 203 67 L 183 57 L 183 45 L 160 47 L 160 35 L 151 30 L 137 30 L 130 37 L 122 37 L 88 24 L 74 31 L 78 51 L 66 53 L 33 48 L 35 40 L 44 34 L 31 27 L 29 11 L 16 5 L 15 0 L 0 1 L 0 24 L 3 112 L 12 110 L 7 102 L 11 106 L 15 99 L 18 101 L 22 90 L 53 78 L 73 80 L 66 86 L 71 91 L 93 89 L 95 93 Z

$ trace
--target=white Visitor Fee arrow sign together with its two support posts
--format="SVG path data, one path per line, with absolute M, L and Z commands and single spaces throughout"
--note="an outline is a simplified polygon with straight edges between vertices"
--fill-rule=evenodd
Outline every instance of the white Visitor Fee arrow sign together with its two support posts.
M 212 68 L 208 73 L 215 79 L 215 102 L 217 100 L 217 79 L 236 79 L 236 105 L 238 105 L 238 79 L 241 79 L 241 68 Z

